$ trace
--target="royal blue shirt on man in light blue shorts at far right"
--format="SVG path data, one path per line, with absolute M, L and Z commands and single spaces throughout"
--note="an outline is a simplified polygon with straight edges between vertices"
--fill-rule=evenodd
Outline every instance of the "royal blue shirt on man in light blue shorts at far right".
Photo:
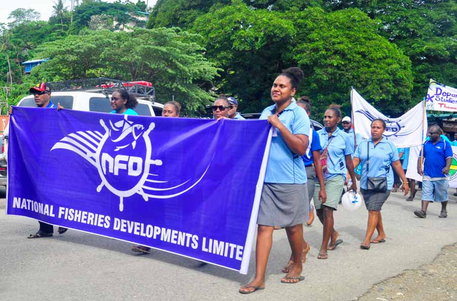
M 445 177 L 442 170 L 446 166 L 446 159 L 452 158 L 452 148 L 448 141 L 443 138 L 436 144 L 427 140 L 423 143 L 423 154 L 425 161 L 423 162 L 423 174 L 429 177 Z M 419 156 L 422 153 L 419 152 Z

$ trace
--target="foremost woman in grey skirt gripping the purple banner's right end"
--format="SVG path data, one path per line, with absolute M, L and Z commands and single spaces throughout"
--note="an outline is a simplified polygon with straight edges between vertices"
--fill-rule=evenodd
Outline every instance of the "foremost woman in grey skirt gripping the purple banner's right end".
M 260 119 L 268 119 L 272 125 L 273 137 L 258 210 L 255 277 L 240 287 L 240 293 L 248 294 L 265 288 L 265 270 L 274 226 L 286 229 L 293 257 L 293 264 L 281 282 L 298 283 L 304 279 L 301 276 L 302 224 L 308 219 L 308 192 L 301 156 L 308 147 L 310 124 L 305 110 L 292 101 L 302 79 L 300 68 L 283 70 L 271 88 L 271 99 L 275 104 L 260 115 Z

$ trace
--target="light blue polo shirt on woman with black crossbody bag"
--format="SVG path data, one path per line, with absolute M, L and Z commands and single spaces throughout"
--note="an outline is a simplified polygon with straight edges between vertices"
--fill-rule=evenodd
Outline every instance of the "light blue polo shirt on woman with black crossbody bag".
M 367 174 L 367 143 L 370 147 L 370 171 Z M 398 150 L 394 143 L 382 137 L 378 144 L 374 145 L 371 138 L 364 140 L 355 149 L 354 157 L 360 159 L 362 164 L 362 177 L 360 187 L 367 189 L 367 178 L 370 177 L 387 177 L 387 189 L 391 190 L 394 186 L 394 172 L 390 166 L 392 162 L 400 160 Z

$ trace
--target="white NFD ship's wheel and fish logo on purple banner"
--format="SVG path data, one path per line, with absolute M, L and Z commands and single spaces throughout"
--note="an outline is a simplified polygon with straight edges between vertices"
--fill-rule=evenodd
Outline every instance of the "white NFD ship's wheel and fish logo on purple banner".
M 124 115 L 122 121 L 114 124 L 110 121 L 110 128 L 103 119 L 100 119 L 100 125 L 105 130 L 104 134 L 99 131 L 71 133 L 55 143 L 51 151 L 58 148 L 68 149 L 91 163 L 101 178 L 97 192 L 106 187 L 118 196 L 120 211 L 124 209 L 123 199 L 134 194 L 141 195 L 145 201 L 149 198 L 172 198 L 183 194 L 197 185 L 209 169 L 210 164 L 194 183 L 187 179 L 172 187 L 156 187 L 168 181 L 154 179 L 159 175 L 150 173 L 151 166 L 162 165 L 160 159 L 151 158 L 152 143 L 149 134 L 155 124 L 150 123 L 145 129 L 141 124 L 128 121 L 128 115 Z M 132 150 L 135 150 L 136 156 L 132 156 Z M 161 194 L 150 194 L 145 190 Z

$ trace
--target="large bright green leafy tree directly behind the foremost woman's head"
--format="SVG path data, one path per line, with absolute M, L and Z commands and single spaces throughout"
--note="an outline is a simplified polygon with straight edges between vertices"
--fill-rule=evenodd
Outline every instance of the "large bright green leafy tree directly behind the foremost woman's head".
M 411 64 L 377 30 L 356 9 L 282 13 L 241 2 L 213 7 L 193 27 L 210 61 L 224 69 L 217 91 L 236 95 L 242 111 L 264 108 L 274 77 L 299 66 L 305 72 L 299 92 L 315 99 L 319 111 L 332 102 L 348 111 L 353 85 L 380 109 L 398 113 L 410 105 Z

